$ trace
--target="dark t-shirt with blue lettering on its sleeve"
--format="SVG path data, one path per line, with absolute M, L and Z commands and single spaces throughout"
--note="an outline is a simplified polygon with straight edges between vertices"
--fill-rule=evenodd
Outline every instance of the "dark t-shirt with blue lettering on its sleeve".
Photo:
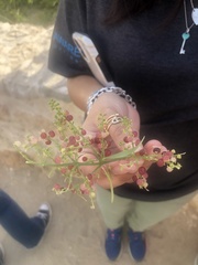
M 198 189 L 198 26 L 190 30 L 186 54 L 179 54 L 186 30 L 183 8 L 166 23 L 175 1 L 164 0 L 123 22 L 107 25 L 110 0 L 61 0 L 52 36 L 50 68 L 63 76 L 91 75 L 72 34 L 88 34 L 117 86 L 138 105 L 141 135 L 186 152 L 180 170 L 152 166 L 150 191 L 134 184 L 114 189 L 121 197 L 160 201 Z M 187 3 L 191 24 L 190 3 Z M 80 89 L 80 87 L 79 87 Z

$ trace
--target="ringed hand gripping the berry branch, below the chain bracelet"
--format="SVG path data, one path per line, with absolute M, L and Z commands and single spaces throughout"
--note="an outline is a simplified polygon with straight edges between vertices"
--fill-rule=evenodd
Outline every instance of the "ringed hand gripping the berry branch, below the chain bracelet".
M 110 117 L 111 115 L 119 114 L 121 117 L 128 117 L 132 120 L 132 130 L 135 131 L 133 137 L 133 146 L 135 142 L 140 142 L 139 139 L 139 129 L 140 129 L 140 117 L 136 109 L 132 108 L 131 105 L 129 105 L 123 98 L 120 96 L 108 93 L 105 95 L 101 95 L 96 103 L 94 104 L 88 117 L 86 118 L 84 123 L 84 128 L 86 129 L 87 134 L 95 138 L 100 134 L 99 130 L 99 115 L 103 115 L 106 117 Z M 118 123 L 113 124 L 109 127 L 109 135 L 108 140 L 110 142 L 109 151 L 111 155 L 119 152 L 123 149 L 123 146 L 120 145 L 120 142 L 123 142 L 124 138 L 128 137 L 128 134 L 124 132 L 123 124 Z M 131 142 L 127 142 L 125 145 L 130 146 Z M 158 152 L 166 150 L 165 147 L 162 146 L 162 144 L 157 140 L 148 141 L 144 147 L 142 145 L 139 145 L 139 149 L 136 150 L 136 157 L 139 159 L 135 159 L 132 161 L 132 159 L 129 161 L 125 160 L 119 160 L 114 162 L 110 162 L 106 166 L 102 166 L 100 170 L 97 170 L 97 178 L 96 182 L 100 184 L 101 187 L 109 189 L 110 182 L 107 178 L 107 174 L 110 173 L 111 178 L 111 184 L 113 187 L 121 186 L 123 183 L 131 183 L 133 182 L 133 177 L 139 173 L 139 169 L 146 170 L 151 167 L 151 165 L 154 162 L 152 160 L 147 161 L 142 159 L 142 152 L 145 155 L 156 155 L 156 150 Z M 94 155 L 90 150 L 84 150 L 86 151 L 86 157 L 94 159 Z M 129 167 L 130 163 L 130 167 Z M 95 168 L 92 166 L 84 167 L 82 171 L 85 173 L 90 173 L 95 171 Z M 145 176 L 144 173 L 144 176 Z

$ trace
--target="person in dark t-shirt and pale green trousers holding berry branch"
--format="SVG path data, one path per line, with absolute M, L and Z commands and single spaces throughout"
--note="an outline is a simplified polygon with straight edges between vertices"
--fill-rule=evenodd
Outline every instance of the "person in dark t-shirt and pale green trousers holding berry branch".
M 128 137 L 120 119 L 129 117 L 133 140 L 140 142 L 145 136 L 139 153 L 162 155 L 169 148 L 186 152 L 183 168 L 172 174 L 144 159 L 131 161 L 131 167 L 124 167 L 127 161 L 122 167 L 120 161 L 109 165 L 113 202 L 106 168 L 101 168 L 96 177 L 97 201 L 107 225 L 105 247 L 111 261 L 121 253 L 125 221 L 130 255 L 142 261 L 145 231 L 197 193 L 197 14 L 190 0 L 59 1 L 48 67 L 67 77 L 72 100 L 87 113 L 86 131 L 96 137 L 98 117 L 103 115 L 107 134 L 102 137 L 112 142 L 111 152 L 118 152 Z M 103 87 L 92 75 L 75 46 L 74 32 L 92 40 L 114 86 Z M 88 150 L 87 157 L 91 156 Z M 147 189 L 134 184 L 140 174 L 148 174 Z

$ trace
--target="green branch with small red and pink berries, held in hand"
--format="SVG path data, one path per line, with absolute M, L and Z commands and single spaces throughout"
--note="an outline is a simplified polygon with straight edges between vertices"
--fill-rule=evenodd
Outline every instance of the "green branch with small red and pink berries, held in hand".
M 106 165 L 119 160 L 128 160 L 124 166 L 132 167 L 139 160 L 155 161 L 158 167 L 166 166 L 168 172 L 175 168 L 180 169 L 178 159 L 182 155 L 176 155 L 174 150 L 153 155 L 145 155 L 139 151 L 142 141 L 135 141 L 136 131 L 132 130 L 132 121 L 123 117 L 121 123 L 127 137 L 120 142 L 123 151 L 111 153 L 112 141 L 108 137 L 102 137 L 106 126 L 106 116 L 99 116 L 99 134 L 97 137 L 90 137 L 87 131 L 74 123 L 73 115 L 63 110 L 59 103 L 52 99 L 50 106 L 54 115 L 54 128 L 50 131 L 42 129 L 35 136 L 28 136 L 23 144 L 15 141 L 14 147 L 25 158 L 26 163 L 45 167 L 51 172 L 57 170 L 64 177 L 64 184 L 55 184 L 53 190 L 57 194 L 72 191 L 82 199 L 90 199 L 91 208 L 95 208 L 95 182 L 99 170 L 102 170 L 107 177 L 110 190 L 111 201 L 113 201 L 113 186 L 111 174 Z M 85 150 L 89 150 L 94 158 L 86 156 Z M 33 157 L 33 158 L 32 158 Z M 87 176 L 81 168 L 91 166 L 95 169 Z M 122 167 L 120 165 L 120 167 Z M 138 173 L 133 176 L 133 182 L 140 189 L 147 190 L 147 172 L 144 167 L 140 167 Z

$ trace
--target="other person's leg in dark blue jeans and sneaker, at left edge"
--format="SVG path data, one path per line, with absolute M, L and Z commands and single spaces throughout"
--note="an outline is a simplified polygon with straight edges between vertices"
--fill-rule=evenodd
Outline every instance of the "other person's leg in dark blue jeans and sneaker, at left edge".
M 48 226 L 52 210 L 48 203 L 42 203 L 37 213 L 29 218 L 19 204 L 0 189 L 0 224 L 26 248 L 36 246 Z M 4 264 L 4 251 L 0 246 L 0 265 Z

